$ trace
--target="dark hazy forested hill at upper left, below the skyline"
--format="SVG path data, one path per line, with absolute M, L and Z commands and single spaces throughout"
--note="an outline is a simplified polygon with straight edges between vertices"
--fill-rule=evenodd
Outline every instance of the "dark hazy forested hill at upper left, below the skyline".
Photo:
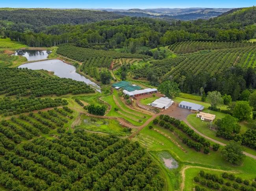
M 41 31 L 46 26 L 57 24 L 84 24 L 101 20 L 120 18 L 106 11 L 83 9 L 0 9 L 0 26 L 5 21 L 12 22 L 12 29 L 24 31 L 24 28 Z

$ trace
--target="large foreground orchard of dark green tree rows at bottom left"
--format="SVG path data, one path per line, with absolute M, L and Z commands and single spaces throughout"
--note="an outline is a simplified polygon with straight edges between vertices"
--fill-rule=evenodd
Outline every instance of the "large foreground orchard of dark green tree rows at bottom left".
M 8 190 L 147 191 L 163 187 L 162 178 L 156 176 L 158 168 L 137 142 L 79 129 L 58 138 L 37 138 L 39 135 L 32 134 L 33 124 L 42 129 L 54 129 L 58 124 L 43 125 L 54 118 L 46 114 L 1 122 L 0 184 Z M 9 132 L 7 127 L 11 127 Z M 24 133 L 22 137 L 19 132 Z

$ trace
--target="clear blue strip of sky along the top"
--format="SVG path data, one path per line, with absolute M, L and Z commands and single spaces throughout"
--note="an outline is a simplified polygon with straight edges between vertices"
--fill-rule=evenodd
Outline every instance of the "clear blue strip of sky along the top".
M 237 8 L 254 4 L 255 0 L 0 0 L 0 7 L 14 8 Z

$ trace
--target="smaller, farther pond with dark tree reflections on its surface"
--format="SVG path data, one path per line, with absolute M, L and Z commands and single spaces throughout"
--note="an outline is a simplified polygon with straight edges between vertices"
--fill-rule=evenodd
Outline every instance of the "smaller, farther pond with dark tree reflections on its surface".
M 17 50 L 15 56 L 24 56 L 28 61 L 44 60 L 52 51 L 40 51 L 40 50 Z

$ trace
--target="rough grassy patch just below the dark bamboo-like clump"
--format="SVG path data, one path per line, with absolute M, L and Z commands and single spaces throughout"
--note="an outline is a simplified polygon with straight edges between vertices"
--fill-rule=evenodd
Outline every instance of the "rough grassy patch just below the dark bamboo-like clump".
M 82 115 L 81 118 L 82 122 L 77 127 L 81 127 L 89 131 L 110 133 L 117 136 L 130 135 L 129 129 L 126 127 L 122 127 L 117 120 L 96 118 L 87 115 Z

